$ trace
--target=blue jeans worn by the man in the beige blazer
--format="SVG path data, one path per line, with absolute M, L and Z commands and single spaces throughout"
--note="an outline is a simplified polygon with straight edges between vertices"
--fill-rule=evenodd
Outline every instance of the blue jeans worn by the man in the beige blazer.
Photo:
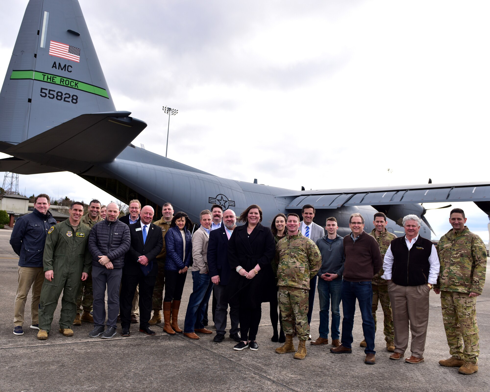
M 210 285 L 211 277 L 209 273 L 199 273 L 199 271 L 192 271 L 191 273 L 193 281 L 192 294 L 189 297 L 189 304 L 185 314 L 185 333 L 192 333 L 194 329 L 204 328 L 202 317 L 213 290 L 213 286 Z

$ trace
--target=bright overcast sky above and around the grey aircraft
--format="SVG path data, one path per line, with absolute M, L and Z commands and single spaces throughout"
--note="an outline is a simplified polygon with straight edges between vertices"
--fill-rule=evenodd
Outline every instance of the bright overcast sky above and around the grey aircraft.
M 26 4 L 1 2 L 0 75 Z M 489 1 L 80 4 L 116 108 L 148 124 L 137 146 L 165 155 L 166 105 L 179 110 L 168 157 L 226 178 L 290 189 L 489 179 Z M 71 173 L 21 175 L 20 190 L 113 199 Z M 486 214 L 452 204 L 487 242 Z M 426 216 L 438 236 L 449 229 L 447 209 Z

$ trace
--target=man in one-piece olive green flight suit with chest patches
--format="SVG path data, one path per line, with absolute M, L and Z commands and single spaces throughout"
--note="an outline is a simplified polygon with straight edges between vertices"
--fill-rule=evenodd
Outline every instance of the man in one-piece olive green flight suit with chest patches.
M 90 229 L 80 222 L 83 203 L 74 201 L 70 218 L 51 226 L 44 246 L 44 276 L 39 309 L 39 340 L 48 339 L 54 311 L 61 299 L 60 333 L 73 336 L 70 325 L 76 315 L 76 297 L 80 282 L 87 279 L 92 256 L 88 249 Z

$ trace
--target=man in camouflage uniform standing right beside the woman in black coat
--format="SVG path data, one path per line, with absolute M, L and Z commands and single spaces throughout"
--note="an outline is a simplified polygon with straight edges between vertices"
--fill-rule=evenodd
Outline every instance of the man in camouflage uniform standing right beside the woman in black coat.
M 320 269 L 321 256 L 317 245 L 298 231 L 298 215 L 288 214 L 286 226 L 288 235 L 276 246 L 279 310 L 286 333 L 286 343 L 276 348 L 275 351 L 278 354 L 295 351 L 293 344 L 293 319 L 295 319 L 299 345 L 294 359 L 304 359 L 306 357 L 305 343 L 310 336 L 308 325 L 310 279 Z

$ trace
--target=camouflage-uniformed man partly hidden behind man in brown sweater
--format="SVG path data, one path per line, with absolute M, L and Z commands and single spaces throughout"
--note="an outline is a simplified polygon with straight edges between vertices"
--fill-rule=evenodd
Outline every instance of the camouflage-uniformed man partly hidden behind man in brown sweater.
M 374 221 L 372 223 L 374 224 L 374 229 L 369 234 L 376 239 L 379 250 L 381 251 L 381 257 L 384 260 L 385 253 L 396 236 L 386 229 L 388 221 L 386 220 L 386 215 L 382 212 L 374 214 Z M 384 273 L 385 271 L 381 267 L 381 270 L 372 278 L 372 317 L 374 319 L 374 332 L 376 332 L 376 311 L 378 310 L 379 300 L 384 315 L 383 333 L 385 334 L 386 349 L 393 352 L 395 350 L 393 343 L 395 334 L 393 330 L 392 306 L 390 296 L 388 295 L 388 282 L 381 277 Z M 359 345 L 366 347 L 366 341 L 363 340 Z

